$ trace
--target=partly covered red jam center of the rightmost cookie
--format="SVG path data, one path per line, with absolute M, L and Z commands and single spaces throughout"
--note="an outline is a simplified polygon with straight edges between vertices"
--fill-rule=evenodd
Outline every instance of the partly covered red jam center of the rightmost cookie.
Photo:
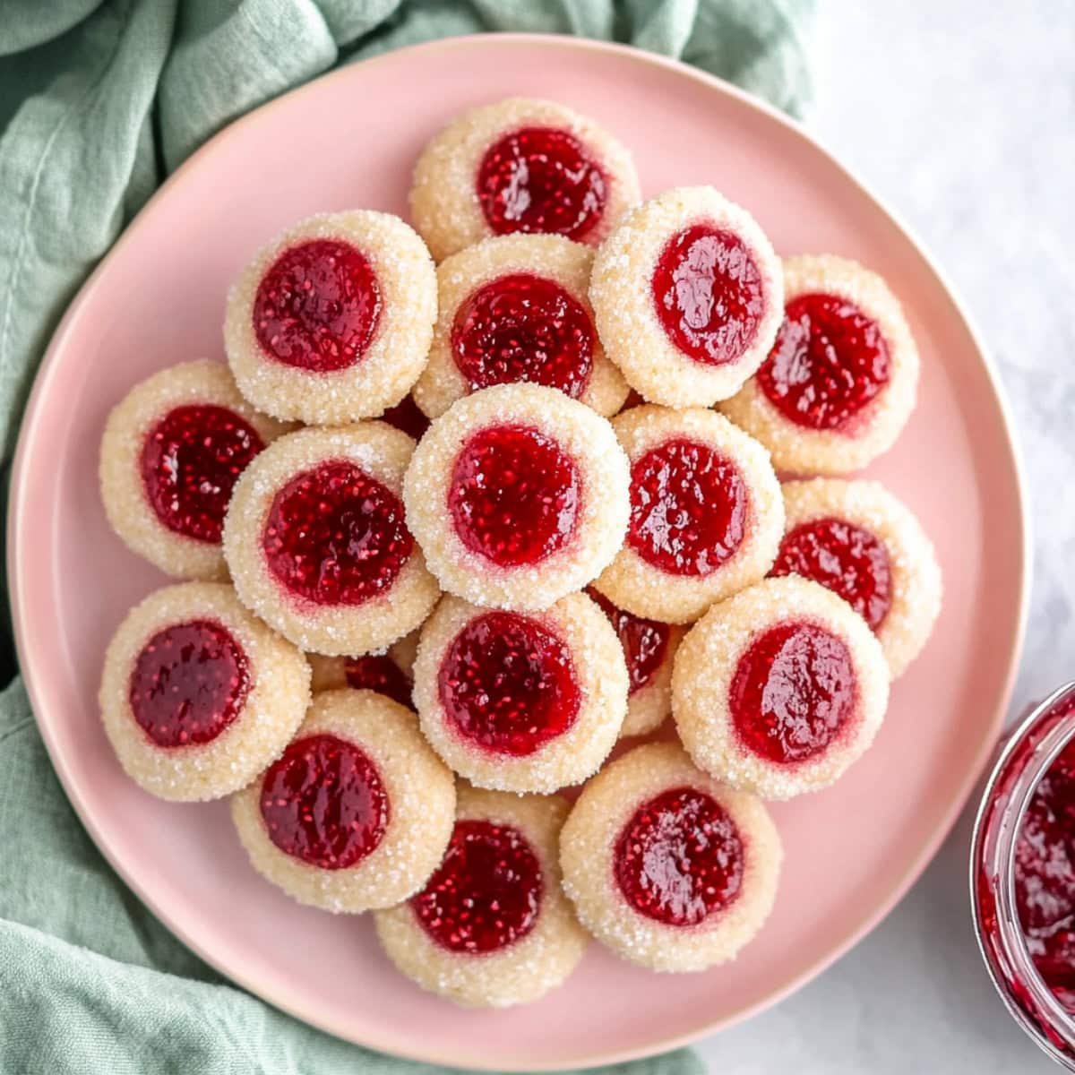
M 815 519 L 786 534 L 771 575 L 802 575 L 842 597 L 876 631 L 892 605 L 888 549 L 844 519 Z

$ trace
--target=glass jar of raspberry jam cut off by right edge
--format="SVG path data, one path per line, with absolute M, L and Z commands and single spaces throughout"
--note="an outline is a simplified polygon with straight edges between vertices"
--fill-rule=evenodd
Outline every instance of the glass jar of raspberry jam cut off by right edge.
M 1008 1012 L 1075 1072 L 1075 683 L 1001 751 L 975 822 L 971 905 Z

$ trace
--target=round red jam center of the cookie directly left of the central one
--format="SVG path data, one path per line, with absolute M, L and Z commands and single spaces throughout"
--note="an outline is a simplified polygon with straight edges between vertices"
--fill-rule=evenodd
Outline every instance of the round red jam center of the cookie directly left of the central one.
M 403 504 L 345 460 L 303 471 L 273 498 L 261 535 L 273 576 L 315 604 L 361 604 L 396 582 L 414 548 Z

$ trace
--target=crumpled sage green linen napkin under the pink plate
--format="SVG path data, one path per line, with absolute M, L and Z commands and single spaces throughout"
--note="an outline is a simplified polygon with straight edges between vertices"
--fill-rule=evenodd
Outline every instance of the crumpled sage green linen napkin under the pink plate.
M 813 0 L 0 0 L 3 484 L 64 305 L 164 175 L 243 112 L 401 45 L 528 30 L 628 41 L 798 114 L 812 11 Z M 0 1072 L 425 1070 L 304 1027 L 172 937 L 83 831 L 16 673 L 5 622 Z M 686 1075 L 700 1064 L 679 1051 L 618 1070 Z

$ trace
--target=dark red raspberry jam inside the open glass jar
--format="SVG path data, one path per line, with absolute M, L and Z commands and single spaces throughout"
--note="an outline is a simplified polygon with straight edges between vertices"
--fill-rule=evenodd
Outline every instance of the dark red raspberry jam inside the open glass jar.
M 1055 717 L 1075 713 L 1075 699 Z M 1075 1010 L 1075 743 L 1049 766 L 1022 818 L 1015 895 L 1027 948 L 1046 985 Z

